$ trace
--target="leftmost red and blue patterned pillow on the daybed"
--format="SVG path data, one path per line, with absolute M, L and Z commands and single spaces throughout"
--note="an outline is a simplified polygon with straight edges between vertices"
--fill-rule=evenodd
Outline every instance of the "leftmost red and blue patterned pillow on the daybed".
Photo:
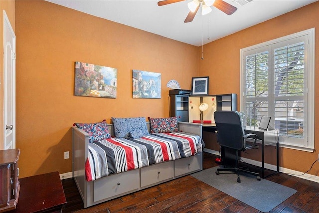
M 105 121 L 99 123 L 75 123 L 75 125 L 89 134 L 89 143 L 111 138 L 108 124 Z

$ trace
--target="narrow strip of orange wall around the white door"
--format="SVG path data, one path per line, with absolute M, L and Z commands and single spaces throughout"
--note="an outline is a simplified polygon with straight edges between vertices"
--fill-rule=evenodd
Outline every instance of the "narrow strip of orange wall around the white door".
M 3 149 L 3 10 L 9 18 L 11 26 L 15 31 L 15 1 L 0 0 L 0 150 Z

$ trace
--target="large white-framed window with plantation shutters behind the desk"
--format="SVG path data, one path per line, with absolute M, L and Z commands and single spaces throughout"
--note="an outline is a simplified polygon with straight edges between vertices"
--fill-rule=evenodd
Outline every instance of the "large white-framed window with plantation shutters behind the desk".
M 283 147 L 314 149 L 315 29 L 241 49 L 241 112 L 246 126 L 262 116 Z

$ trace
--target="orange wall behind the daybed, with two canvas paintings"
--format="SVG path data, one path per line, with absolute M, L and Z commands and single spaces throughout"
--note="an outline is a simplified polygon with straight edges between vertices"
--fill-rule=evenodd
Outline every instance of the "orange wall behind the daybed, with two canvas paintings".
M 21 177 L 72 171 L 74 122 L 168 117 L 167 82 L 190 89 L 198 75 L 195 46 L 42 0 L 15 4 Z M 74 96 L 75 61 L 117 68 L 117 98 Z M 132 98 L 132 69 L 161 73 L 161 99 Z

